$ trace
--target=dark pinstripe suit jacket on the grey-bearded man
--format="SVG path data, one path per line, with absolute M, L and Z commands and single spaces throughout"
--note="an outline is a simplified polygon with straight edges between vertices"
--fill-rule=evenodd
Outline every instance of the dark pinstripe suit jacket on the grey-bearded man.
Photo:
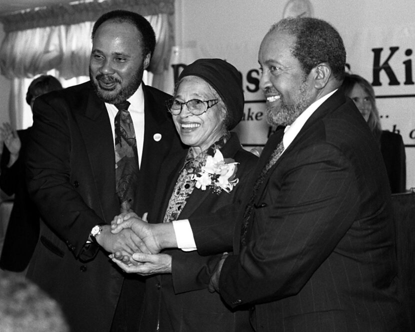
M 269 138 L 256 174 L 281 137 Z M 254 203 L 247 245 L 239 248 L 236 229 L 238 254 L 222 266 L 225 302 L 255 304 L 258 331 L 398 330 L 387 175 L 367 124 L 340 90 L 307 120 Z

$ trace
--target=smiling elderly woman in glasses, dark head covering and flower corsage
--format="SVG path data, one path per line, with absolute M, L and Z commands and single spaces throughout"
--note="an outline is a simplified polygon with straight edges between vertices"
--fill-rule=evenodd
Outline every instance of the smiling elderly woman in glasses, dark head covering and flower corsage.
M 242 117 L 243 103 L 240 74 L 226 61 L 198 59 L 183 69 L 167 108 L 189 149 L 184 155 L 171 155 L 163 165 L 150 223 L 179 222 L 175 220 L 214 213 L 237 201 L 256 163 L 256 156 L 242 149 L 237 135 L 229 132 Z M 224 229 L 230 236 L 220 236 L 231 250 L 233 225 Z M 145 273 L 142 265 L 113 259 L 127 272 L 159 273 L 146 280 L 140 330 L 250 331 L 247 311 L 230 311 L 219 294 L 207 290 L 209 266 L 220 256 L 180 249 L 141 254 L 141 264 L 153 266 Z

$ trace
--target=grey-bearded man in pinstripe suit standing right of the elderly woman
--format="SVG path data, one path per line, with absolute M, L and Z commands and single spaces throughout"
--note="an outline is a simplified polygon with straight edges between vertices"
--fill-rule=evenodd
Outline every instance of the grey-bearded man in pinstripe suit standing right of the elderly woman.
M 367 124 L 338 89 L 345 57 L 315 18 L 281 20 L 259 49 L 267 119 L 283 127 L 243 195 L 235 254 L 210 285 L 231 308 L 251 305 L 257 331 L 399 330 L 390 189 Z M 206 218 L 189 218 L 200 254 L 225 247 L 206 240 L 220 237 L 219 218 Z M 134 231 L 152 251 L 176 244 L 150 226 Z

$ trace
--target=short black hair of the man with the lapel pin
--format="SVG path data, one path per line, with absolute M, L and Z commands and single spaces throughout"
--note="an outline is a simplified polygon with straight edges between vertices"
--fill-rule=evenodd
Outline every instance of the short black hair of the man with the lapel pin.
M 155 48 L 155 33 L 150 22 L 148 22 L 148 20 L 146 20 L 145 17 L 141 16 L 136 12 L 128 10 L 108 11 L 101 15 L 93 24 L 91 33 L 92 39 L 98 27 L 107 20 L 112 20 L 117 23 L 128 22 L 134 25 L 141 34 L 142 55 L 145 56 L 148 53 L 152 55 Z

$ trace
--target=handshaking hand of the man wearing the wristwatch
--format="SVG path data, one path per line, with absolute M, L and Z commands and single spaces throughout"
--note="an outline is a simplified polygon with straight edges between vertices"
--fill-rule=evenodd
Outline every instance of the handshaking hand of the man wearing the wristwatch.
M 150 253 L 145 243 L 131 229 L 122 229 L 114 234 L 109 225 L 103 225 L 101 233 L 95 239 L 108 252 L 120 251 L 129 255 L 138 251 Z

